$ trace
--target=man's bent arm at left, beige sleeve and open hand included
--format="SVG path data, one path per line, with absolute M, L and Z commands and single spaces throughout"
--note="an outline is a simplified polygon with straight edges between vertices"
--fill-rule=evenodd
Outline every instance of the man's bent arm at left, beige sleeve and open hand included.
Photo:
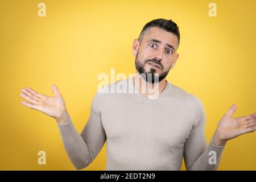
M 65 102 L 56 85 L 52 85 L 53 97 L 44 96 L 31 88 L 22 89 L 22 96 L 28 102 L 23 105 L 56 119 L 61 138 L 69 159 L 77 169 L 92 163 L 103 147 L 106 135 L 101 124 L 100 110 L 103 94 L 96 94 L 90 109 L 90 117 L 81 135 L 73 126 L 72 119 L 65 108 Z

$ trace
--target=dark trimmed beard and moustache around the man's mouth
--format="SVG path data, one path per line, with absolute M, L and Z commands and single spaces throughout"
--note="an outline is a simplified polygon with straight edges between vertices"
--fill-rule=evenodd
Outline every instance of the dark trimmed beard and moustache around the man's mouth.
M 158 64 L 162 70 L 163 70 L 163 65 L 162 65 L 162 63 L 160 63 L 160 60 L 157 60 L 157 59 L 147 59 L 144 63 L 141 63 L 138 60 L 138 53 L 139 52 L 137 52 L 137 55 L 135 58 L 135 68 L 137 69 L 137 71 L 139 72 L 139 74 L 145 81 L 150 82 L 151 84 L 154 84 L 155 82 L 162 81 L 168 75 L 171 68 L 168 69 L 168 71 L 162 72 L 160 74 L 155 73 L 156 69 L 154 69 L 154 68 L 150 68 L 150 71 L 146 72 L 144 69 L 144 66 L 148 62 Z

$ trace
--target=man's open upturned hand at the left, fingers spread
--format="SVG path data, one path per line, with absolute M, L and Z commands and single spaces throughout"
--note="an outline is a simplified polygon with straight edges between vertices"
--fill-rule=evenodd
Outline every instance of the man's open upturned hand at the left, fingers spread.
M 68 121 L 69 114 L 65 107 L 65 101 L 61 96 L 56 85 L 52 85 L 52 92 L 54 94 L 51 96 L 44 96 L 36 92 L 35 90 L 27 87 L 22 89 L 22 96 L 25 101 L 21 101 L 24 106 L 30 107 L 31 109 L 36 109 L 42 113 L 49 115 L 56 119 L 57 123 L 63 124 Z

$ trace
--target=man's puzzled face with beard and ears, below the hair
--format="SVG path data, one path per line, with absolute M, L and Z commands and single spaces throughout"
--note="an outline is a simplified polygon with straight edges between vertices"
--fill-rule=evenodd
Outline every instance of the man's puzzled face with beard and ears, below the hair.
M 154 83 L 163 80 L 170 69 L 174 68 L 179 56 L 176 53 L 177 47 L 178 42 L 175 34 L 158 27 L 150 28 L 144 34 L 141 42 L 138 39 L 134 40 L 133 55 L 136 56 L 135 67 L 137 71 L 148 82 Z M 146 75 L 146 78 L 143 75 Z M 152 80 L 147 80 L 149 75 L 152 75 Z M 154 76 L 158 77 L 158 80 L 155 81 Z

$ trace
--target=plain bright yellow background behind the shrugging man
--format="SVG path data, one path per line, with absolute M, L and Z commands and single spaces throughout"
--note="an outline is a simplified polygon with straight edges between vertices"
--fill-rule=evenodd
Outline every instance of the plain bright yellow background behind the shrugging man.
M 38 4 L 46 3 L 46 17 Z M 209 3 L 217 17 L 208 15 Z M 69 161 L 55 119 L 20 104 L 30 86 L 63 94 L 76 129 L 88 117 L 100 73 L 134 73 L 131 46 L 152 19 L 174 20 L 181 34 L 180 56 L 167 80 L 195 94 L 207 114 L 212 137 L 229 106 L 234 117 L 256 111 L 256 1 L 1 1 L 0 169 L 68 170 Z M 256 133 L 230 140 L 219 170 L 256 169 Z M 38 151 L 46 151 L 39 165 Z M 106 146 L 85 170 L 105 170 Z M 182 169 L 184 170 L 184 164 Z

